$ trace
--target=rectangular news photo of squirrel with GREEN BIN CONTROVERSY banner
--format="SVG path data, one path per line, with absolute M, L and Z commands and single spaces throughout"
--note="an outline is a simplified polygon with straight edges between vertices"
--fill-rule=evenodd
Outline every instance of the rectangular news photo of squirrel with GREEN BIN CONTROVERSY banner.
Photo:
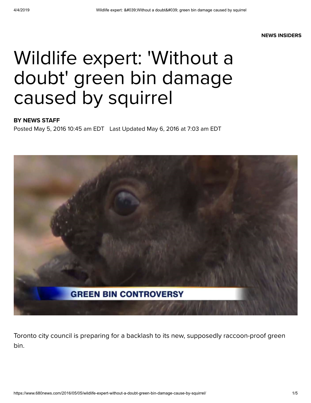
M 15 155 L 14 315 L 297 315 L 297 167 Z

